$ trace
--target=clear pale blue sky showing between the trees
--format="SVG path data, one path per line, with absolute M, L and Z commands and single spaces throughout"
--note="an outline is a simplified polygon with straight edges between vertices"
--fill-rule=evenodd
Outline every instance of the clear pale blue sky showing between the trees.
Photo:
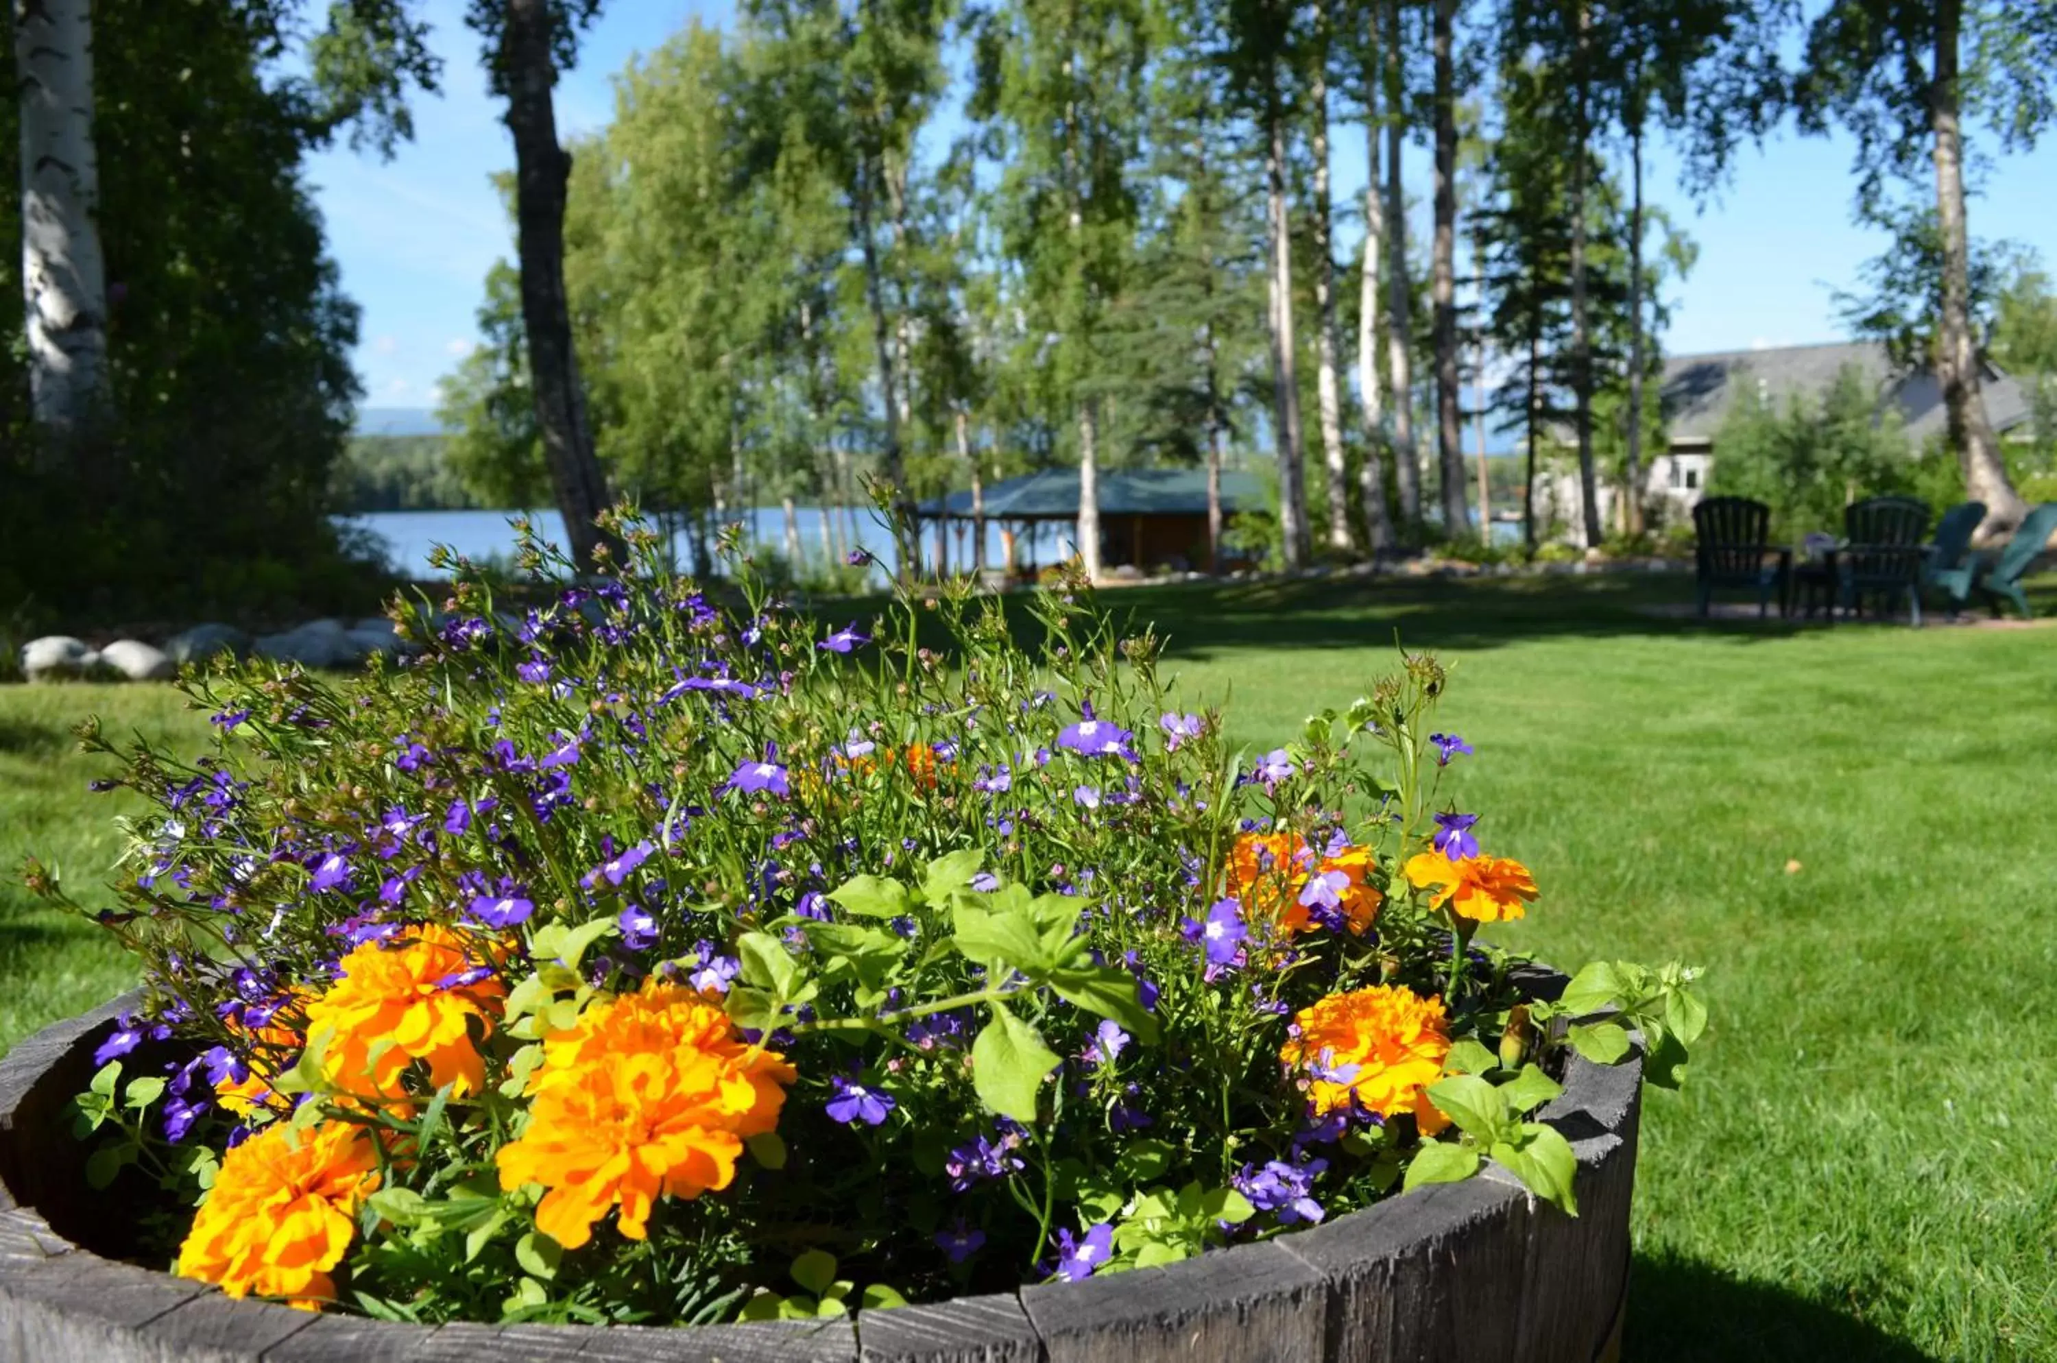
M 344 290 L 364 308 L 356 354 L 366 407 L 430 407 L 436 378 L 475 341 L 473 312 L 488 267 L 512 257 L 512 228 L 490 175 L 514 164 L 500 107 L 485 93 L 477 37 L 461 23 L 463 0 L 428 0 L 444 58 L 442 95 L 416 105 L 416 140 L 381 162 L 348 148 L 309 162 L 327 218 L 329 251 Z M 691 19 L 728 23 L 732 6 L 695 0 L 615 0 L 588 31 L 578 68 L 557 86 L 562 136 L 603 127 L 613 74 L 660 45 Z M 1364 138 L 1335 130 L 1335 191 L 1354 201 L 1364 187 Z M 1849 224 L 1851 146 L 1790 130 L 1763 150 L 1744 150 L 1730 187 L 1695 206 L 1674 183 L 1662 148 L 1646 177 L 1648 197 L 1668 208 L 1699 243 L 1691 278 L 1674 282 L 1668 354 L 1794 345 L 1837 339 L 1833 288 L 1855 284 L 1857 265 L 1884 245 Z M 1428 154 L 1413 150 L 1409 181 L 1426 201 Z M 2057 142 L 1995 158 L 1971 204 L 1973 232 L 2012 238 L 2057 261 Z M 1421 228 L 1415 226 L 1415 232 Z M 1339 251 L 1351 243 L 1339 243 Z

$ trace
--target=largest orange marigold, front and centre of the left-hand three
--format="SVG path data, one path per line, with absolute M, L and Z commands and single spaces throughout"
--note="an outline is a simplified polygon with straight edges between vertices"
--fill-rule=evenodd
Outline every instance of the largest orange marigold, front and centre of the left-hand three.
M 652 979 L 592 1003 L 543 1042 L 529 1127 L 498 1153 L 500 1186 L 547 1188 L 535 1225 L 574 1250 L 621 1207 L 621 1233 L 648 1236 L 662 1196 L 699 1196 L 736 1176 L 743 1141 L 778 1125 L 794 1069 L 743 1042 L 720 1005 Z

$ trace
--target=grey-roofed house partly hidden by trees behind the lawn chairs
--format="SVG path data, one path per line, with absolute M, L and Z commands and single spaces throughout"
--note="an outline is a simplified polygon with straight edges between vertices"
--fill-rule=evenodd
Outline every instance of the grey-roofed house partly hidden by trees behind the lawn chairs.
M 1726 349 L 1703 356 L 1670 356 L 1658 401 L 1664 411 L 1666 448 L 1650 456 L 1644 504 L 1674 522 L 1691 516 L 1713 471 L 1713 438 L 1734 405 L 1753 395 L 1783 407 L 1790 397 L 1818 401 L 1837 374 L 1853 366 L 1876 391 L 1880 411 L 1890 403 L 1901 413 L 1907 446 L 1919 450 L 1948 428 L 1942 384 L 1936 374 L 1899 370 L 1878 341 L 1825 341 L 1820 345 L 1779 345 L 1773 349 Z M 2030 428 L 2030 395 L 1991 362 L 1981 368 L 1985 415 L 2006 440 Z M 1541 479 L 1537 514 L 1549 522 L 1578 522 L 1578 475 Z M 1600 518 L 1615 522 L 1615 489 L 1602 485 Z

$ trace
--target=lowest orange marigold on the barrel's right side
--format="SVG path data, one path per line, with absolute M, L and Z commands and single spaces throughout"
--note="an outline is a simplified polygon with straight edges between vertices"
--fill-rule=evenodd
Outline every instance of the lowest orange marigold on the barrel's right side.
M 1442 1075 L 1448 1053 L 1442 999 L 1423 999 L 1405 985 L 1372 985 L 1302 1007 L 1279 1059 L 1308 1075 L 1314 1112 L 1356 1098 L 1380 1116 L 1413 1112 L 1421 1135 L 1434 1135 L 1448 1118 L 1426 1090 Z

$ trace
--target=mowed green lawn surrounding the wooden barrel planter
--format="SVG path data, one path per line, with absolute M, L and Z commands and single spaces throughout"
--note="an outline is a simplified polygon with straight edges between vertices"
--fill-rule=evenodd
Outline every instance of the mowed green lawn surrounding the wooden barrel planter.
M 1627 1357 L 2057 1359 L 2057 629 L 1652 619 L 1676 580 L 1146 588 L 1189 697 L 1273 746 L 1454 664 L 1452 794 L 1543 900 L 1502 940 L 1707 966 L 1652 1094 Z M 2045 596 L 2043 606 L 2049 609 Z M 0 863 L 91 884 L 119 802 L 66 726 L 200 734 L 163 689 L 0 691 Z M 0 886 L 0 1042 L 125 983 Z

